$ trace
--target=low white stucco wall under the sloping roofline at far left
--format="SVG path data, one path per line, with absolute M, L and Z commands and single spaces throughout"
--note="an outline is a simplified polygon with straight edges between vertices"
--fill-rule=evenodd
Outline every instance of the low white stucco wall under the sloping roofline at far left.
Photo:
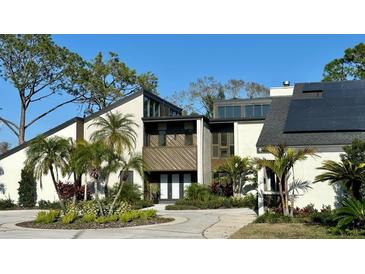
M 76 139 L 76 122 L 50 135 L 49 137 L 55 135 L 64 138 L 71 137 Z M 0 160 L 0 166 L 4 169 L 4 175 L 1 176 L 1 182 L 4 183 L 6 187 L 5 195 L 1 193 L 0 198 L 10 197 L 15 202 L 18 201 L 18 187 L 25 159 L 26 148 Z M 59 179 L 61 181 L 67 181 L 68 178 L 63 178 L 60 174 Z M 40 187 L 40 181 L 37 181 L 37 200 L 57 200 L 57 195 L 49 174 L 47 176 L 43 176 L 42 188 Z

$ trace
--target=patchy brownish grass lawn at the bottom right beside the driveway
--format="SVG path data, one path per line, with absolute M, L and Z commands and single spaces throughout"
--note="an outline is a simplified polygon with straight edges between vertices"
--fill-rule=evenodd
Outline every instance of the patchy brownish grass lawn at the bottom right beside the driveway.
M 328 229 L 309 224 L 252 223 L 235 232 L 231 239 L 365 239 L 364 235 L 333 235 Z

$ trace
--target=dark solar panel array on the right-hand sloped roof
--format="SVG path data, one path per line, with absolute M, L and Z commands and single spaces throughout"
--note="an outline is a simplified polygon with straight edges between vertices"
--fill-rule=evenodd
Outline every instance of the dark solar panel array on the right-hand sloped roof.
M 365 81 L 296 84 L 284 132 L 365 131 Z

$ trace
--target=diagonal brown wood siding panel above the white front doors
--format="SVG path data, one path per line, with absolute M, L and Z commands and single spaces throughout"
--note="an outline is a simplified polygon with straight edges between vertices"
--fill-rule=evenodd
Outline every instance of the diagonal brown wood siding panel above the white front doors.
M 197 169 L 196 146 L 144 147 L 143 159 L 150 171 L 192 171 Z

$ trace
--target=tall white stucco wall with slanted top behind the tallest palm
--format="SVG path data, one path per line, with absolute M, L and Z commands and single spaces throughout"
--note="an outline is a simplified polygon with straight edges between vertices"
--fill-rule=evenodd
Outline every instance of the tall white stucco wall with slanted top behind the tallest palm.
M 136 147 L 135 152 L 142 154 L 142 148 L 143 148 L 143 95 L 140 95 L 130 101 L 127 101 L 126 103 L 114 108 L 111 110 L 112 113 L 122 113 L 123 115 L 131 114 L 133 115 L 134 121 L 138 124 L 138 127 L 135 128 L 135 131 L 137 133 L 137 139 L 136 139 Z M 101 115 L 101 117 L 105 117 L 107 113 Z M 95 122 L 95 119 L 91 119 L 84 123 L 84 138 L 85 140 L 89 141 L 90 136 L 92 132 L 95 130 L 95 127 L 92 125 L 93 122 Z M 128 157 L 127 155 L 125 155 Z M 87 177 L 87 180 L 88 177 Z M 109 177 L 109 186 L 112 186 L 113 184 L 117 183 L 119 181 L 118 174 L 112 173 Z M 140 185 L 141 190 L 143 190 L 143 178 L 137 174 L 137 172 L 133 172 L 133 181 L 134 184 Z

